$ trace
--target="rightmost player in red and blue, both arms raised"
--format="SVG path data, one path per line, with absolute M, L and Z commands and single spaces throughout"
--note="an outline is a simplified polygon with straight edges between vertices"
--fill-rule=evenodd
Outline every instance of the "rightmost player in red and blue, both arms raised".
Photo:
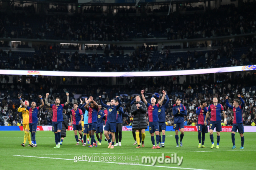
M 232 149 L 236 149 L 235 145 L 235 133 L 238 130 L 238 133 L 241 137 L 241 147 L 240 149 L 244 149 L 244 125 L 243 125 L 243 108 L 244 108 L 244 100 L 242 99 L 241 95 L 237 95 L 240 98 L 241 105 L 239 106 L 239 100 L 234 100 L 233 106 L 228 103 L 228 96 L 226 97 L 226 105 L 233 110 L 234 113 L 234 120 L 232 125 L 232 132 L 231 132 L 231 139 L 233 143 Z

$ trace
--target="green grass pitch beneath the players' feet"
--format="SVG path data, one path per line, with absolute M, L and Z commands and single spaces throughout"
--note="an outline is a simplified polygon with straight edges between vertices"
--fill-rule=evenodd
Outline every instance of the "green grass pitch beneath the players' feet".
M 97 148 L 82 147 L 76 145 L 74 132 L 68 131 L 60 149 L 55 147 L 54 134 L 50 131 L 38 131 L 36 133 L 36 143 L 38 147 L 22 147 L 24 140 L 23 131 L 1 131 L 0 132 L 0 169 L 16 170 L 37 170 L 37 169 L 90 169 L 90 170 L 156 170 L 156 169 L 198 169 L 198 170 L 241 170 L 254 167 L 255 158 L 255 135 L 256 133 L 245 133 L 244 149 L 240 150 L 241 139 L 236 133 L 236 149 L 231 150 L 231 133 L 220 133 L 220 149 L 210 149 L 211 142 L 209 133 L 206 134 L 204 146 L 207 148 L 198 148 L 198 133 L 185 132 L 183 138 L 183 147 L 176 148 L 175 133 L 166 132 L 165 147 L 161 149 L 151 149 L 152 143 L 150 133 L 146 131 L 145 147 L 136 149 L 133 146 L 134 139 L 131 131 L 123 131 L 122 146 L 115 146 L 114 149 L 108 149 L 107 142 L 102 139 L 102 145 Z M 180 134 L 179 134 L 180 135 Z M 96 137 L 96 136 L 95 136 Z M 216 146 L 216 133 L 214 133 L 214 144 Z M 26 144 L 27 145 L 27 144 Z M 180 158 L 183 156 L 180 166 L 177 163 L 142 163 L 143 156 L 173 157 L 174 153 Z M 173 154 L 173 156 L 172 156 Z M 18 155 L 18 156 L 15 156 Z M 74 162 L 74 156 L 92 156 L 91 162 Z M 30 156 L 30 157 L 25 157 Z M 112 161 L 109 161 L 111 157 Z M 116 160 L 114 160 L 114 157 Z M 94 161 L 92 161 L 94 159 Z M 100 160 L 104 159 L 106 162 Z M 81 158 L 82 160 L 82 158 Z M 85 160 L 85 158 L 84 158 Z M 87 157 L 88 160 L 88 157 Z M 162 159 L 159 159 L 160 161 Z M 169 159 L 170 160 L 170 159 Z M 108 162 L 107 162 L 108 161 Z M 148 159 L 149 161 L 149 159 Z M 119 165 L 118 162 L 130 162 L 137 165 Z M 177 161 L 178 162 L 178 161 Z M 166 167 L 166 168 L 165 168 Z

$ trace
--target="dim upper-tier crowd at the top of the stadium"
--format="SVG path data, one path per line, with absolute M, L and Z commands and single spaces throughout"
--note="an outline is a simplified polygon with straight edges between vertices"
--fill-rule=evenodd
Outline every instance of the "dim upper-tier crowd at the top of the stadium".
M 236 8 L 234 4 L 223 5 L 218 9 L 206 10 L 203 14 L 186 16 L 171 14 L 160 17 L 149 15 L 145 18 L 117 14 L 111 19 L 104 15 L 92 19 L 83 14 L 38 16 L 13 13 L 9 16 L 2 12 L 0 37 L 74 41 L 128 41 L 142 37 L 169 39 L 220 37 L 254 33 L 255 7 L 256 2 L 246 2 L 243 8 Z

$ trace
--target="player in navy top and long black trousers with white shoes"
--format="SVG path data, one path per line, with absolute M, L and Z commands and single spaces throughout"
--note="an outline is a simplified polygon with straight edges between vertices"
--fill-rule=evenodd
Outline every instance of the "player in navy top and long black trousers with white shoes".
M 116 100 L 116 106 L 119 104 L 118 100 Z M 123 118 L 122 114 L 124 114 L 124 109 L 123 107 L 119 107 L 117 110 L 116 116 L 116 145 L 115 146 L 121 146 L 121 140 L 122 140 L 122 130 L 123 130 Z

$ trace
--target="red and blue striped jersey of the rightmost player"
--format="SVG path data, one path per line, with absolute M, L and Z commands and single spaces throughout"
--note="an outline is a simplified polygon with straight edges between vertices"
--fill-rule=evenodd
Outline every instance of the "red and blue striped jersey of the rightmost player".
M 243 108 L 244 108 L 244 100 L 240 97 L 240 100 L 242 102 L 242 104 L 238 107 L 234 107 L 231 106 L 228 103 L 228 99 L 226 99 L 226 105 L 230 108 L 233 109 L 233 113 L 234 113 L 234 120 L 233 120 L 233 124 L 235 123 L 243 123 Z

